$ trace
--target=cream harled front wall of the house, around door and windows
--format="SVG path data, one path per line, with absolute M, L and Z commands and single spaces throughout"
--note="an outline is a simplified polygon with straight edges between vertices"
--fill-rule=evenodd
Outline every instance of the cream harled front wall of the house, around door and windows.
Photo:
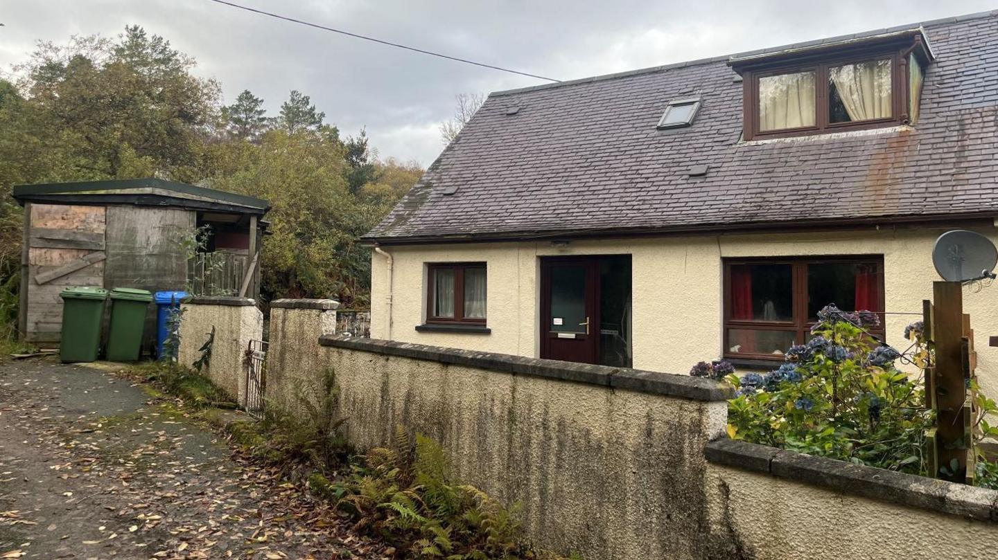
M 634 367 L 685 374 L 700 360 L 717 359 L 722 345 L 722 259 L 788 255 L 883 255 L 886 311 L 920 313 L 931 298 L 932 266 L 939 229 L 883 228 L 850 232 L 721 235 L 549 242 L 386 247 L 394 259 L 393 304 L 388 327 L 387 270 L 382 255 L 372 265 L 371 337 L 526 357 L 539 356 L 540 258 L 555 255 L 630 254 L 633 270 Z M 992 227 L 977 229 L 992 240 Z M 421 333 L 426 301 L 426 263 L 488 263 L 488 327 L 491 334 Z M 998 284 L 964 289 L 978 351 L 978 377 L 998 395 Z M 916 316 L 888 316 L 887 342 L 903 350 L 904 326 Z

